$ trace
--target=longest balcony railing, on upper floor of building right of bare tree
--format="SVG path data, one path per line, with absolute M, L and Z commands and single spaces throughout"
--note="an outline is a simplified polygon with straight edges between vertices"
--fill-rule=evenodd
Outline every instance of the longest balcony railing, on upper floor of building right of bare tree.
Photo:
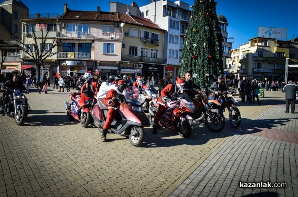
M 83 38 L 83 39 L 122 39 L 122 33 L 114 32 L 58 32 L 59 38 Z

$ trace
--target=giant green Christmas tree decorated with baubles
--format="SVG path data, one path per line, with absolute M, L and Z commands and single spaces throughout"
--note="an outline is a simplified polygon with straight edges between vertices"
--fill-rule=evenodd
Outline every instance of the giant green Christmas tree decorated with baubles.
M 214 0 L 195 0 L 184 44 L 179 76 L 186 72 L 201 87 L 210 87 L 224 74 L 222 33 Z

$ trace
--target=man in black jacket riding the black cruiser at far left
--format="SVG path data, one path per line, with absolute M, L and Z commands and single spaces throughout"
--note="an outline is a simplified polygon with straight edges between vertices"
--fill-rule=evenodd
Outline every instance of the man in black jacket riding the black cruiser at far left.
M 14 75 L 11 80 L 6 81 L 5 84 L 4 84 L 4 86 L 6 86 L 6 87 L 8 87 L 10 89 L 19 89 L 21 92 L 23 92 L 24 90 L 26 90 L 26 87 L 23 84 L 23 81 L 20 80 L 20 78 L 19 78 L 18 75 Z M 1 90 L 3 90 L 3 89 L 1 88 Z M 4 112 L 5 105 L 9 102 L 9 99 L 10 99 L 8 97 L 8 95 L 10 93 L 12 93 L 10 90 L 6 90 L 3 93 L 3 97 L 0 99 L 0 102 L 2 104 L 0 106 L 0 113 L 3 113 Z

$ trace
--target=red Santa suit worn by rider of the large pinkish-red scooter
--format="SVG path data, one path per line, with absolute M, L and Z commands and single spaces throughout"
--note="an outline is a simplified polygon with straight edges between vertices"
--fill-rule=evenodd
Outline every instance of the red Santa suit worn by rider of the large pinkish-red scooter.
M 117 90 L 115 90 L 115 89 L 111 89 L 107 93 L 106 97 L 103 99 L 103 102 L 106 105 L 108 105 L 108 109 L 109 109 L 108 114 L 107 114 L 107 119 L 103 125 L 103 129 L 111 128 L 111 124 L 112 124 L 117 112 L 119 111 L 119 106 L 120 106 L 119 100 L 112 101 L 112 98 L 116 97 L 118 94 L 120 94 L 120 92 L 117 92 Z

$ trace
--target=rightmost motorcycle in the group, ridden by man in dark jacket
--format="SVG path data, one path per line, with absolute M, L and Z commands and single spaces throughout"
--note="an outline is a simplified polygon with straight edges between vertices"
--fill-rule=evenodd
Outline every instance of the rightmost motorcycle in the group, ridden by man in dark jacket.
M 241 124 L 241 114 L 239 109 L 235 106 L 235 103 L 239 101 L 237 99 L 233 99 L 233 96 L 236 96 L 236 92 L 234 90 L 225 91 L 221 93 L 216 100 L 221 104 L 217 106 L 219 110 L 225 111 L 225 108 L 228 109 L 230 123 L 234 128 L 238 128 Z

